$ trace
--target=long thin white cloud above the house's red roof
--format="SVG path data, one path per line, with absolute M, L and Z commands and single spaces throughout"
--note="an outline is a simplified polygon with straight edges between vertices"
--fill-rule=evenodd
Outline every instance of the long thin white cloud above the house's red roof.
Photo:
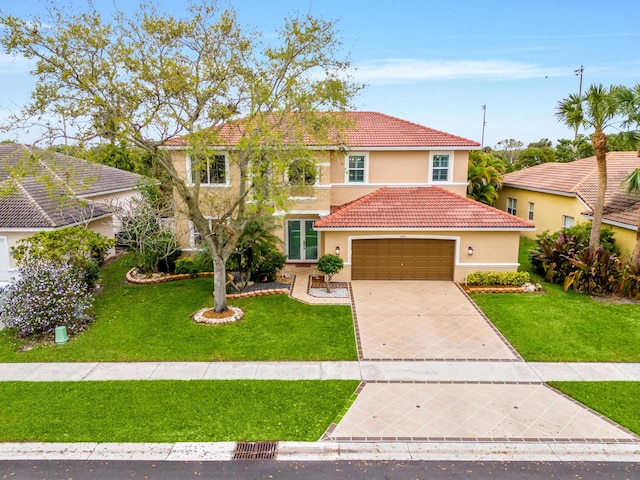
M 569 68 L 544 67 L 503 60 L 422 60 L 387 58 L 355 65 L 357 80 L 367 83 L 409 83 L 437 80 L 513 80 L 566 76 Z

